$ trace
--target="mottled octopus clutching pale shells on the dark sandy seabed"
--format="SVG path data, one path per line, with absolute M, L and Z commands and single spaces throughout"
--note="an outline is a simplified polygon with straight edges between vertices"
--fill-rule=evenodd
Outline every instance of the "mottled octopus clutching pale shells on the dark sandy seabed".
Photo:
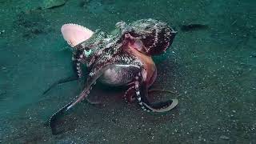
M 135 96 L 142 110 L 148 112 L 165 112 L 178 105 L 177 99 L 158 103 L 148 101 L 149 87 L 157 76 L 151 56 L 164 53 L 176 34 L 166 23 L 151 18 L 130 24 L 118 22 L 113 34 L 66 24 L 62 26 L 62 34 L 73 47 L 72 59 L 78 78 L 82 77 L 82 64 L 90 73 L 82 93 L 50 118 L 51 128 L 58 115 L 86 98 L 96 80 L 110 86 L 128 86 L 124 98 L 132 102 Z

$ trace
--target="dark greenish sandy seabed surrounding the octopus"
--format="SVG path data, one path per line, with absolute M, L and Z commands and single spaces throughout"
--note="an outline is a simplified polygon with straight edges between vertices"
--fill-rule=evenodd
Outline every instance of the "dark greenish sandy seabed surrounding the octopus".
M 62 1 L 48 0 L 60 4 Z M 256 143 L 256 1 L 0 0 L 0 143 Z M 41 8 L 40 8 L 41 7 Z M 91 30 L 155 18 L 178 35 L 154 61 L 154 88 L 178 95 L 165 114 L 143 112 L 125 90 L 96 85 L 51 134 L 48 118 L 82 90 L 62 38 L 65 23 Z M 194 27 L 195 26 L 195 27 Z

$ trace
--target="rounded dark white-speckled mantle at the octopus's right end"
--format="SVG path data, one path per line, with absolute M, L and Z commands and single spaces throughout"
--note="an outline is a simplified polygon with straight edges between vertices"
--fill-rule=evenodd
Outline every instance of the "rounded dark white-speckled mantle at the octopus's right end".
M 147 55 L 166 52 L 177 34 L 166 23 L 151 18 L 138 20 L 122 27 L 128 27 L 124 37 L 132 38 L 133 46 Z

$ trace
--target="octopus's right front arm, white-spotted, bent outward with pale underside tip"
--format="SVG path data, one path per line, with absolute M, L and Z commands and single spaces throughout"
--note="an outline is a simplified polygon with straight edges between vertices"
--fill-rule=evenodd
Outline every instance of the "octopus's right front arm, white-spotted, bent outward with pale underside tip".
M 177 99 L 171 99 L 166 102 L 150 103 L 148 101 L 148 88 L 146 82 L 143 81 L 142 74 L 138 73 L 135 77 L 135 93 L 138 100 L 138 104 L 142 107 L 143 110 L 150 112 L 166 112 L 172 110 L 175 106 L 178 105 Z

